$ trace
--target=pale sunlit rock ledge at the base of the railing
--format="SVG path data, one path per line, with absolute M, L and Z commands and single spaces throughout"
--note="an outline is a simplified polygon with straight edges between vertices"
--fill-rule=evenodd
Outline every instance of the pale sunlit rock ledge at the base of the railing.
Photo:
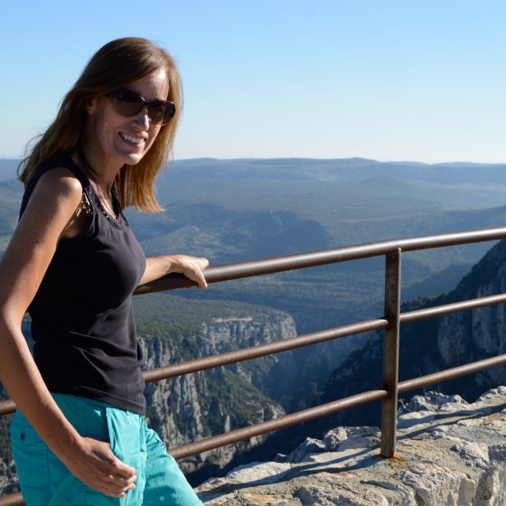
M 208 506 L 504 506 L 505 436 L 506 387 L 473 404 L 429 392 L 399 409 L 395 458 L 378 427 L 338 427 L 197 492 Z

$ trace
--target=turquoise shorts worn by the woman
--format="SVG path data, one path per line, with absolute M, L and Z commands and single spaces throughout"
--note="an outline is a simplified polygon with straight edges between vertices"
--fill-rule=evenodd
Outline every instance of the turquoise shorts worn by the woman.
M 136 468 L 136 489 L 108 497 L 70 474 L 19 409 L 10 427 L 14 463 L 27 506 L 197 506 L 201 501 L 144 417 L 88 398 L 53 394 L 81 436 L 108 441 L 113 454 Z

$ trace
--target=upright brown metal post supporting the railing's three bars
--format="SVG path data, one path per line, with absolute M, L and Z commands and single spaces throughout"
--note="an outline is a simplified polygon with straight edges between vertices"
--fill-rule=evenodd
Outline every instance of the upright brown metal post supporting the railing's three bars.
M 383 389 L 389 392 L 381 405 L 381 456 L 393 457 L 397 436 L 398 342 L 400 322 L 400 257 L 398 248 L 386 255 L 385 318 L 383 339 Z

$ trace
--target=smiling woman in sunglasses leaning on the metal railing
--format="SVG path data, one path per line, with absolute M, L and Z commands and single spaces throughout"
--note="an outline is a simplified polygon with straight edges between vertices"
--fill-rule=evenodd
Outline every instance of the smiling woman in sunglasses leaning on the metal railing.
M 145 258 L 123 215 L 160 211 L 155 176 L 181 107 L 167 52 L 109 42 L 24 161 L 21 217 L 0 264 L 0 380 L 18 407 L 11 441 L 28 506 L 201 504 L 145 426 L 131 299 L 170 272 L 205 288 L 208 261 Z

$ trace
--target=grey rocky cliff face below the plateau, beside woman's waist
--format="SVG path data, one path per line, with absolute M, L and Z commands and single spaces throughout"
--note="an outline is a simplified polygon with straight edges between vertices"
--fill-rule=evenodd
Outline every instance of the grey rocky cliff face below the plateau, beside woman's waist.
M 192 358 L 197 358 L 294 335 L 295 323 L 289 315 L 266 310 L 255 316 L 212 318 L 201 323 L 201 332 L 170 340 L 143 333 L 140 338 L 145 347 L 145 366 L 152 369 L 183 360 L 188 348 L 192 349 Z M 145 390 L 147 417 L 171 447 L 279 417 L 284 409 L 265 392 L 275 389 L 273 379 L 289 369 L 289 361 L 289 355 L 281 360 L 271 356 L 151 383 Z M 193 471 L 202 464 L 221 467 L 239 450 L 265 439 L 258 437 L 201 454 L 185 461 L 183 469 Z

